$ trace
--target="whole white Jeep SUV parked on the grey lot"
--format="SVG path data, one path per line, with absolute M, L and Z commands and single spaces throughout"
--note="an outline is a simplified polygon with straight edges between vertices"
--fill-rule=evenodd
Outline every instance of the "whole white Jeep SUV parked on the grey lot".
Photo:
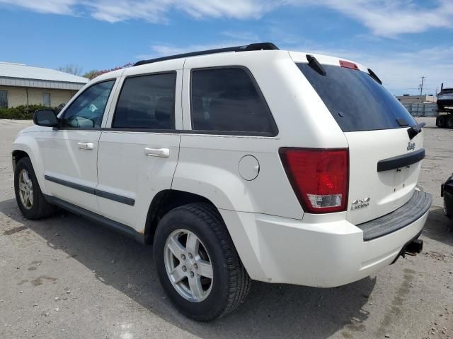
M 333 287 L 420 252 L 423 125 L 352 61 L 251 44 L 95 78 L 13 143 L 18 206 L 154 244 L 161 284 L 209 321 L 251 280 Z

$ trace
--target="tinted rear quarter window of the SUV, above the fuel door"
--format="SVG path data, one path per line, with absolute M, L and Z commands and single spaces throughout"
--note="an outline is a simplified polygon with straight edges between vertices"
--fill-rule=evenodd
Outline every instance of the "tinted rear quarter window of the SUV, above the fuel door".
M 246 69 L 195 69 L 191 94 L 195 130 L 277 135 L 268 105 Z

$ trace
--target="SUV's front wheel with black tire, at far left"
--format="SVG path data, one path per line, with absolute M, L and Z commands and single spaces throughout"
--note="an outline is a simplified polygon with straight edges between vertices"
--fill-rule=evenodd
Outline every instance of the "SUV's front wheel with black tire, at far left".
M 26 183 L 25 186 L 23 186 L 23 183 Z M 24 192 L 26 193 L 25 195 Z M 28 157 L 23 157 L 16 164 L 16 169 L 14 170 L 14 193 L 16 194 L 19 209 L 27 219 L 48 218 L 55 213 L 56 207 L 48 203 L 42 195 L 33 165 Z M 28 196 L 28 199 L 25 196 Z

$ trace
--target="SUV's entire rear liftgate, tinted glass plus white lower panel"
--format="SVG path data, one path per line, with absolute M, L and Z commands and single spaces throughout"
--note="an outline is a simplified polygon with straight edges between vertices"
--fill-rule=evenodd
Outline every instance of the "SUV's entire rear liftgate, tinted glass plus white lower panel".
M 347 218 L 357 225 L 411 198 L 424 154 L 423 133 L 409 138 L 408 128 L 416 122 L 398 100 L 369 73 L 337 62 L 322 65 L 326 75 L 306 63 L 297 66 L 348 139 Z

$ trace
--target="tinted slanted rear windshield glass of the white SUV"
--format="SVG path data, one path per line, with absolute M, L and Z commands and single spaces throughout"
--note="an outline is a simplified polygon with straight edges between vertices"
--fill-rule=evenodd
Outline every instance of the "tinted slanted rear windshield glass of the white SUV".
M 398 129 L 402 126 L 397 119 L 408 126 L 416 124 L 406 108 L 368 73 L 323 65 L 327 74 L 322 76 L 308 64 L 297 66 L 344 132 Z

